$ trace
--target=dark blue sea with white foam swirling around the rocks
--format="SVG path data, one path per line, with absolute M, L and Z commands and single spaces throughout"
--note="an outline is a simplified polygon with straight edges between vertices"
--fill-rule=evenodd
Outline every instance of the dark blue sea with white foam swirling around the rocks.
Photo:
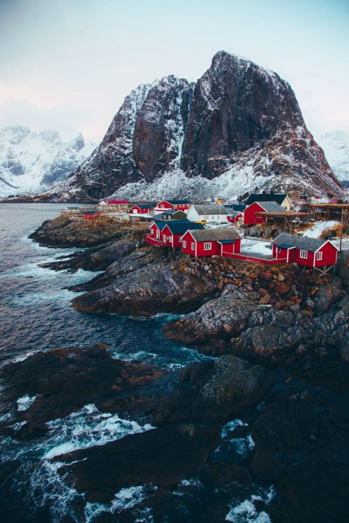
M 38 265 L 73 249 L 42 248 L 27 236 L 44 220 L 57 216 L 60 204 L 0 204 L 0 365 L 25 358 L 35 351 L 52 347 L 68 347 L 92 342 L 110 344 L 117 358 L 137 358 L 162 367 L 181 367 L 204 356 L 193 349 L 174 344 L 163 337 L 162 327 L 170 314 L 152 319 L 132 319 L 113 315 L 91 315 L 70 308 L 70 299 L 76 293 L 64 290 L 92 278 L 96 273 L 78 271 L 62 273 L 40 268 Z M 142 340 L 142 350 L 139 342 Z M 33 398 L 18 398 L 18 408 L 26 409 Z M 10 419 L 11 413 L 7 414 Z M 230 429 L 239 420 L 227 425 Z M 132 487 L 115 493 L 109 505 L 87 503 L 83 496 L 66 486 L 57 473 L 59 464 L 49 458 L 61 453 L 101 445 L 126 434 L 148 430 L 136 420 L 117 415 L 101 414 L 94 404 L 87 404 L 78 412 L 50 423 L 45 438 L 28 443 L 8 437 L 0 443 L 0 462 L 18 460 L 17 468 L 6 479 L 6 489 L 0 491 L 0 501 L 10 503 L 6 521 L 13 522 L 99 522 L 103 513 L 112 521 L 153 522 L 151 506 L 139 506 L 154 492 L 154 487 Z M 253 441 L 237 439 L 215 452 L 244 455 Z M 195 478 L 179 484 L 174 492 L 178 517 L 166 521 L 200 521 L 195 516 L 202 506 L 225 503 L 227 521 L 236 523 L 269 523 L 265 513 L 258 513 L 253 501 L 268 499 L 271 490 L 258 485 L 235 492 L 207 490 Z M 1 503 L 0 503 L 1 504 Z M 121 520 L 119 518 L 122 518 Z M 101 520 L 102 521 L 102 520 Z M 108 520 L 109 521 L 109 520 Z M 157 520 L 158 521 L 158 520 Z

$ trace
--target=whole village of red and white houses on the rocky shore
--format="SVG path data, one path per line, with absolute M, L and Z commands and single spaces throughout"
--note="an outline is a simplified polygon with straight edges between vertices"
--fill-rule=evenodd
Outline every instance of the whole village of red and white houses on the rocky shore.
M 348 203 L 334 199 L 302 201 L 287 194 L 262 193 L 236 204 L 219 198 L 198 204 L 187 199 L 104 200 L 84 211 L 83 217 L 96 220 L 117 213 L 131 226 L 142 223 L 149 227 L 144 241 L 162 255 L 221 256 L 265 265 L 294 263 L 327 272 L 336 266 L 343 243 L 348 243 L 348 211 Z M 260 227 L 272 227 L 280 234 L 262 241 L 255 234 Z

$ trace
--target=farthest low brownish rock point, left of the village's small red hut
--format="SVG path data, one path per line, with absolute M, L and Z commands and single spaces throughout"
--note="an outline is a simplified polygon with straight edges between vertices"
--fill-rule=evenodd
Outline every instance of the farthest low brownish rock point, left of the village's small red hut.
M 120 237 L 121 229 L 115 225 L 100 225 L 97 220 L 92 225 L 86 225 L 80 220 L 70 220 L 65 216 L 46 220 L 29 236 L 45 247 L 60 248 L 91 247 Z

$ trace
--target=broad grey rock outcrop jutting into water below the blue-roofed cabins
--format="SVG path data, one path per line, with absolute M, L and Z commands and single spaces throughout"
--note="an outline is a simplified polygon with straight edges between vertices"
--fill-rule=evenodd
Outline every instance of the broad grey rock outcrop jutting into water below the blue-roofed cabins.
M 196 276 L 172 271 L 170 265 L 151 264 L 114 280 L 106 287 L 72 301 L 82 312 L 117 312 L 152 316 L 158 312 L 186 312 L 202 304 L 216 287 Z

